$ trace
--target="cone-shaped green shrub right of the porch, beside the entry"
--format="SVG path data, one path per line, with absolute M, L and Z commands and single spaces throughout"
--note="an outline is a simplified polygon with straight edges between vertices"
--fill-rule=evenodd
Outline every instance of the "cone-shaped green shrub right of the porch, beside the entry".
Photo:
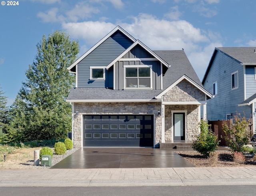
M 217 141 L 217 136 L 209 129 L 210 125 L 206 121 L 201 120 L 199 126 L 201 133 L 196 136 L 192 148 L 204 156 L 209 156 L 210 152 L 217 150 L 219 141 Z

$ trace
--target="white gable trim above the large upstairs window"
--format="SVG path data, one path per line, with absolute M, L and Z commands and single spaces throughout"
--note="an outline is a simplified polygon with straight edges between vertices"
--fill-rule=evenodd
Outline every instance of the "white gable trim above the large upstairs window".
M 140 45 L 142 48 L 144 48 L 148 53 L 150 53 L 152 56 L 154 56 L 158 61 L 160 61 L 163 65 L 166 67 L 170 67 L 170 64 L 166 63 L 162 58 L 160 58 L 154 51 L 149 49 L 147 46 L 145 46 L 140 40 L 136 40 L 130 47 L 128 47 L 123 53 L 121 53 L 116 59 L 114 59 L 111 63 L 109 63 L 106 67 L 106 69 L 110 68 L 116 61 L 118 61 L 122 56 L 124 56 L 128 51 L 130 51 L 135 46 Z

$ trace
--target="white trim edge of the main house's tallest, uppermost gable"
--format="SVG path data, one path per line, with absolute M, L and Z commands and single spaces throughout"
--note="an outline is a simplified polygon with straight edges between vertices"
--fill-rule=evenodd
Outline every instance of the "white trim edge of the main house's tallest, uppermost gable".
M 100 44 L 102 44 L 104 41 L 106 41 L 110 36 L 112 36 L 117 31 L 122 32 L 124 35 L 126 35 L 132 42 L 136 42 L 136 39 L 133 38 L 130 34 L 128 34 L 125 30 L 123 30 L 120 26 L 117 26 L 114 28 L 111 32 L 109 32 L 104 38 L 102 38 L 97 44 L 92 46 L 86 53 L 84 53 L 81 57 L 79 57 L 72 65 L 68 67 L 68 70 L 71 70 L 74 66 L 76 66 L 82 59 L 84 59 L 88 54 L 90 54 L 94 49 L 96 49 Z

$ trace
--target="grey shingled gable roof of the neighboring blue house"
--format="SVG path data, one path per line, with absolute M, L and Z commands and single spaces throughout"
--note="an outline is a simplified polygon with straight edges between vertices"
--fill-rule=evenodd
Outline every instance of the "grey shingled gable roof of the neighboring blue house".
M 204 84 L 206 80 L 206 76 L 209 73 L 209 70 L 212 66 L 212 61 L 217 52 L 221 52 L 234 61 L 241 63 L 242 65 L 256 65 L 256 47 L 219 47 L 215 48 L 204 74 L 204 78 L 202 80 L 202 84 Z

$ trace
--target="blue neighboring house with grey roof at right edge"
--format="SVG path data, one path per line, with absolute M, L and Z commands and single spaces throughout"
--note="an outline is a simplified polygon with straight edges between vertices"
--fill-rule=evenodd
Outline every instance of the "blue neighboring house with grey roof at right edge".
M 207 119 L 227 120 L 236 112 L 253 118 L 256 113 L 256 47 L 215 48 L 202 80 L 214 95 L 207 101 Z

